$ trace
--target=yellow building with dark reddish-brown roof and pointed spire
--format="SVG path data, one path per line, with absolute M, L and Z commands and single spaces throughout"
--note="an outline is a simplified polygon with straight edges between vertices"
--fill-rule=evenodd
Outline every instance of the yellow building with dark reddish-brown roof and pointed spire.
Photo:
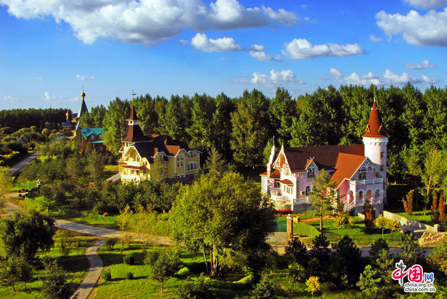
M 123 145 L 119 151 L 122 154 L 119 161 L 121 181 L 150 180 L 150 167 L 153 167 L 157 155 L 161 155 L 164 160 L 166 177 L 177 177 L 183 182 L 192 181 L 200 165 L 199 150 L 189 149 L 184 142 L 166 135 L 145 136 L 133 104 L 126 120 L 129 132 L 121 141 Z

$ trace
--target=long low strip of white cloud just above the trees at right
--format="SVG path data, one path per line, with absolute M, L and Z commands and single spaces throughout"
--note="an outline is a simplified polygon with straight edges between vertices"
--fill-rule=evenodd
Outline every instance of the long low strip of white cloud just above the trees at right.
M 385 74 L 381 77 L 374 75 L 372 72 L 369 72 L 366 75 L 359 75 L 357 73 L 352 73 L 351 75 L 345 75 L 343 72 L 337 69 L 330 69 L 329 74 L 333 75 L 338 81 L 345 84 L 355 84 L 355 85 L 404 85 L 407 82 L 412 84 L 418 83 L 436 83 L 439 80 L 435 78 L 428 77 L 423 75 L 420 78 L 408 75 L 407 73 L 402 73 L 402 75 L 397 75 L 391 72 L 390 70 L 386 70 Z

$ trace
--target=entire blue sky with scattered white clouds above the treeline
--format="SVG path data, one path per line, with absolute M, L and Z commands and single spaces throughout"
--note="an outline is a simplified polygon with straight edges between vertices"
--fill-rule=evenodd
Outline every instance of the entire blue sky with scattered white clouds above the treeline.
M 0 109 L 447 84 L 447 0 L 0 0 L 0 28 Z

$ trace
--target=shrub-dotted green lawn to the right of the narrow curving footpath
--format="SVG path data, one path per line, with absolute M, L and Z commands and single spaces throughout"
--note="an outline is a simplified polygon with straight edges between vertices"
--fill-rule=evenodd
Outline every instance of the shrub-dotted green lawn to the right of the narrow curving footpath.
M 151 247 L 149 250 L 161 251 L 164 247 Z M 179 267 L 188 267 L 191 271 L 189 277 L 197 277 L 202 272 L 206 272 L 204 258 L 202 254 L 191 254 L 187 250 L 180 249 L 181 265 Z M 123 251 L 123 255 L 128 253 L 135 254 L 135 265 L 126 265 L 123 263 L 123 255 L 119 252 L 119 243 L 115 245 L 114 250 L 107 251 L 107 248 L 101 247 L 98 251 L 106 267 L 110 267 L 112 280 L 105 282 L 100 278 L 98 284 L 93 290 L 93 298 L 178 298 L 177 288 L 188 278 L 175 275 L 164 283 L 163 294 L 160 293 L 160 285 L 149 278 L 149 266 L 143 263 L 144 254 L 138 244 L 131 244 Z M 103 270 L 104 271 L 104 270 Z M 125 273 L 133 272 L 134 279 L 126 280 Z M 235 280 L 241 277 L 235 277 Z M 227 278 L 222 278 L 222 280 Z M 248 292 L 251 286 L 246 288 L 213 288 L 215 298 L 248 298 Z

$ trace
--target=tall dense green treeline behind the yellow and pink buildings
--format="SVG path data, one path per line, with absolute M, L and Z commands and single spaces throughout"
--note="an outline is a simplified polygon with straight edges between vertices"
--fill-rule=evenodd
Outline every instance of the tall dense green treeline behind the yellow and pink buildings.
M 224 93 L 216 97 L 196 93 L 192 97 L 172 95 L 168 100 L 146 94 L 137 97 L 134 105 L 145 134 L 166 134 L 205 154 L 216 148 L 228 162 L 254 166 L 264 163 L 274 136 L 277 147 L 282 143 L 285 146 L 362 143 L 374 94 L 389 137 L 391 180 L 417 175 L 414 169 L 422 168 L 431 149 L 446 152 L 447 88 L 435 86 L 422 92 L 410 83 L 380 88 L 329 85 L 297 98 L 285 88 L 278 88 L 273 98 L 257 89 L 245 90 L 237 98 Z M 118 153 L 121 138 L 128 130 L 126 118 L 131 105 L 132 101 L 117 97 L 108 107 L 92 107 L 82 117 L 82 126 L 104 128 L 104 143 Z M 19 110 L 3 110 L 0 115 Z M 59 110 L 62 122 L 65 111 Z M 0 124 L 12 127 L 17 120 L 10 123 L 1 118 Z M 23 121 L 19 124 L 29 126 Z

